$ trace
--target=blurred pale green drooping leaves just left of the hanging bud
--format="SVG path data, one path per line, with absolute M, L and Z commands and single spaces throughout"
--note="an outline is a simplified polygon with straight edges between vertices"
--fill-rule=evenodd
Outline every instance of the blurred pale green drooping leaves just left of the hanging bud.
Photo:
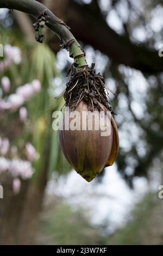
M 63 99 L 55 100 L 53 95 L 49 94 L 54 76 L 60 75 L 55 68 L 55 55 L 46 44 L 37 44 L 32 51 L 29 65 L 30 79 L 35 77 L 42 83 L 41 95 L 28 106 L 34 121 L 34 145 L 41 156 L 40 161 L 35 163 L 35 176 L 39 174 L 43 166 L 48 168 L 49 176 L 54 170 L 62 174 L 66 170 L 67 173 L 71 167 L 60 150 L 58 131 L 52 129 L 52 113 L 60 110 L 64 105 Z

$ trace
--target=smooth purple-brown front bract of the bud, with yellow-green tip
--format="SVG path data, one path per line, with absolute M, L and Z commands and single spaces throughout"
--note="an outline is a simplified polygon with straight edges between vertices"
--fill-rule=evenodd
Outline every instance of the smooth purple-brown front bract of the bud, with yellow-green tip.
M 73 113 L 78 114 L 76 130 L 72 127 Z M 100 118 L 101 113 L 98 109 L 89 111 L 89 105 L 81 101 L 74 111 L 65 113 L 59 134 L 67 161 L 86 181 L 91 181 L 102 171 L 111 153 L 111 122 L 106 114 Z

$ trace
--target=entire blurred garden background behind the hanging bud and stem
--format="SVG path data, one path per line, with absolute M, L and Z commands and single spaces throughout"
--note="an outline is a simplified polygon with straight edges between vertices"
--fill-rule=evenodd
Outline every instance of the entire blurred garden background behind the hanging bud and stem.
M 34 19 L 0 9 L 0 244 L 162 245 L 163 2 L 42 0 L 71 27 L 110 94 L 114 166 L 86 182 L 61 153 L 52 113 L 73 62 Z

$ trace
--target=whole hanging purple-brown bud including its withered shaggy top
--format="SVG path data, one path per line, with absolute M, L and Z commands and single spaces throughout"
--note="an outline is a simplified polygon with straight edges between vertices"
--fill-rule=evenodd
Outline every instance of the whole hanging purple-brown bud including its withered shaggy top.
M 115 162 L 119 147 L 104 78 L 96 74 L 94 67 L 92 64 L 91 68 L 84 66 L 76 70 L 72 66 L 69 70 L 70 80 L 64 93 L 66 111 L 59 132 L 67 161 L 86 181 L 91 181 L 104 167 Z M 74 113 L 79 116 L 76 121 Z

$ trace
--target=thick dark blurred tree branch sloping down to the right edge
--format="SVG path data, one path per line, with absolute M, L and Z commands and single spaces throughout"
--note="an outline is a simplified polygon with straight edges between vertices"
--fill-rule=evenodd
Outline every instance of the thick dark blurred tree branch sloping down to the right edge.
M 163 59 L 159 57 L 158 51 L 150 50 L 143 44 L 135 44 L 127 34 L 117 34 L 99 13 L 100 9 L 97 5 L 95 8 L 92 3 L 79 4 L 72 0 L 59 2 L 61 17 L 65 19 L 74 36 L 79 40 L 105 53 L 117 64 L 153 74 L 163 71 Z M 58 14 L 53 2 L 52 11 Z

